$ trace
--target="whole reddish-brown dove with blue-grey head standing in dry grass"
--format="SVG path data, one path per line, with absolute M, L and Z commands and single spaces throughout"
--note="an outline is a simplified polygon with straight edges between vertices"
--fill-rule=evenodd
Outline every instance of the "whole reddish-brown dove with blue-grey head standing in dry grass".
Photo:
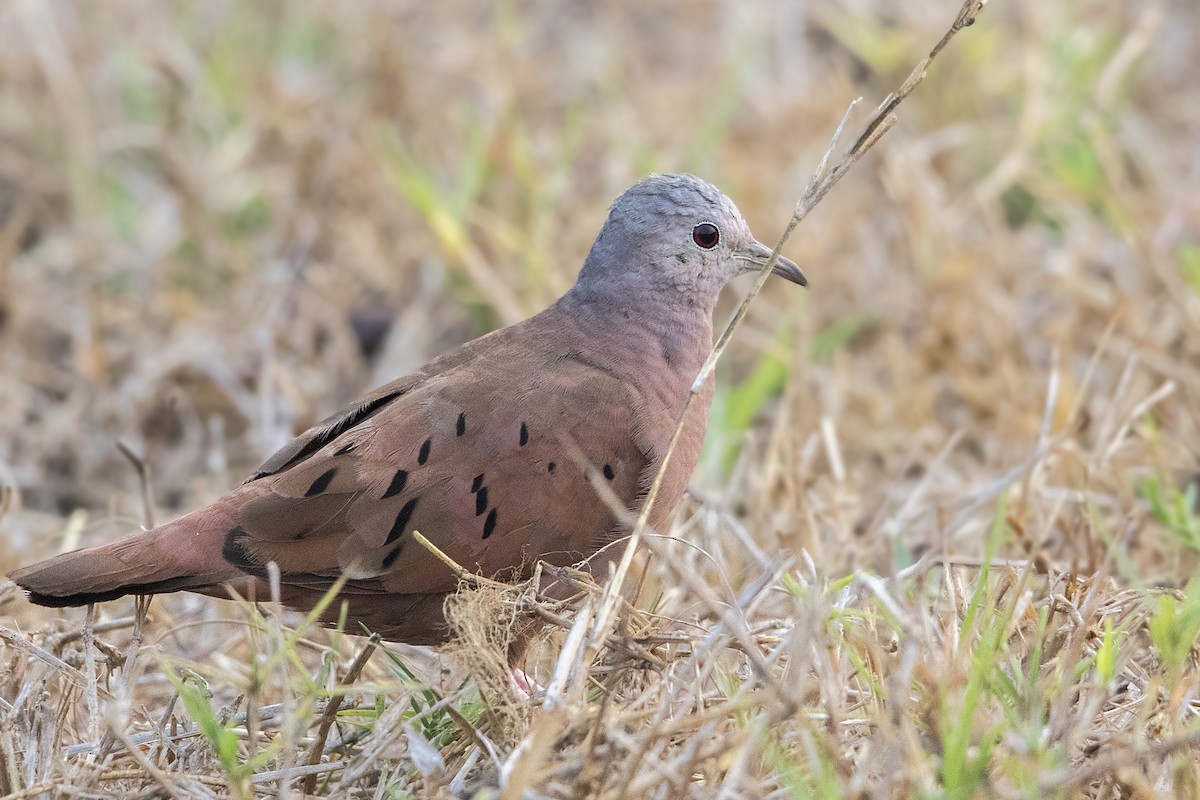
M 34 603 L 192 591 L 270 596 L 323 621 L 436 645 L 460 577 L 517 581 L 541 560 L 611 559 L 641 510 L 713 345 L 732 278 L 766 266 L 733 201 L 655 174 L 610 206 L 576 283 L 540 313 L 440 355 L 308 428 L 211 505 L 151 530 L 19 569 Z M 775 275 L 802 287 L 779 257 Z M 698 389 L 648 524 L 662 529 L 700 456 L 714 390 Z M 590 474 L 590 477 L 589 477 Z M 602 559 L 598 559 L 602 563 Z M 593 570 L 595 565 L 593 565 Z

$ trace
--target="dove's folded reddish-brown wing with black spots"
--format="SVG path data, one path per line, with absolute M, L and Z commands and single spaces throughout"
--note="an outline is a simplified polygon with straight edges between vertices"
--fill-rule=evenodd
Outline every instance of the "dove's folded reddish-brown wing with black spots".
M 456 581 L 413 530 L 487 576 L 611 541 L 614 516 L 578 455 L 636 501 L 648 457 L 631 390 L 586 360 L 494 344 L 432 362 L 269 459 L 244 487 L 241 566 L 274 560 L 284 582 L 310 587 L 346 572 L 356 591 L 437 593 Z

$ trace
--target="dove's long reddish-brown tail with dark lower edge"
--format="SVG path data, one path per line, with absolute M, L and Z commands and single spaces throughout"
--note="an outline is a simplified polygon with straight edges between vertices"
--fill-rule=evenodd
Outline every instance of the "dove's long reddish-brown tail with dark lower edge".
M 230 515 L 202 509 L 154 530 L 17 570 L 8 577 L 38 606 L 62 607 L 211 588 L 245 577 L 222 557 Z

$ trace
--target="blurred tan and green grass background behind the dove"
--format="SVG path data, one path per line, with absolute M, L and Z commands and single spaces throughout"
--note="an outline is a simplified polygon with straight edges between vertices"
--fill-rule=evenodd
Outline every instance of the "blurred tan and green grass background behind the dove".
M 956 6 L 4 4 L 0 569 L 145 522 L 118 443 L 161 522 L 545 307 L 649 172 L 774 241 Z M 982 554 L 1007 489 L 1007 555 L 1193 572 L 1196 30 L 1184 0 L 992 0 L 722 363 L 700 541 L 892 573 Z

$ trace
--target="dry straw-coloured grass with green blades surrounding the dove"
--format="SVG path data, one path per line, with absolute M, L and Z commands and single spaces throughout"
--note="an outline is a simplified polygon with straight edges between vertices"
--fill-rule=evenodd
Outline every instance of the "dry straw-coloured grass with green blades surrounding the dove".
M 0 6 L 0 569 L 542 307 L 649 170 L 772 239 L 955 11 L 598 6 Z M 1196 796 L 1198 29 L 992 0 L 798 228 L 607 640 L 587 583 L 462 593 L 440 656 L 0 584 L 0 794 Z

